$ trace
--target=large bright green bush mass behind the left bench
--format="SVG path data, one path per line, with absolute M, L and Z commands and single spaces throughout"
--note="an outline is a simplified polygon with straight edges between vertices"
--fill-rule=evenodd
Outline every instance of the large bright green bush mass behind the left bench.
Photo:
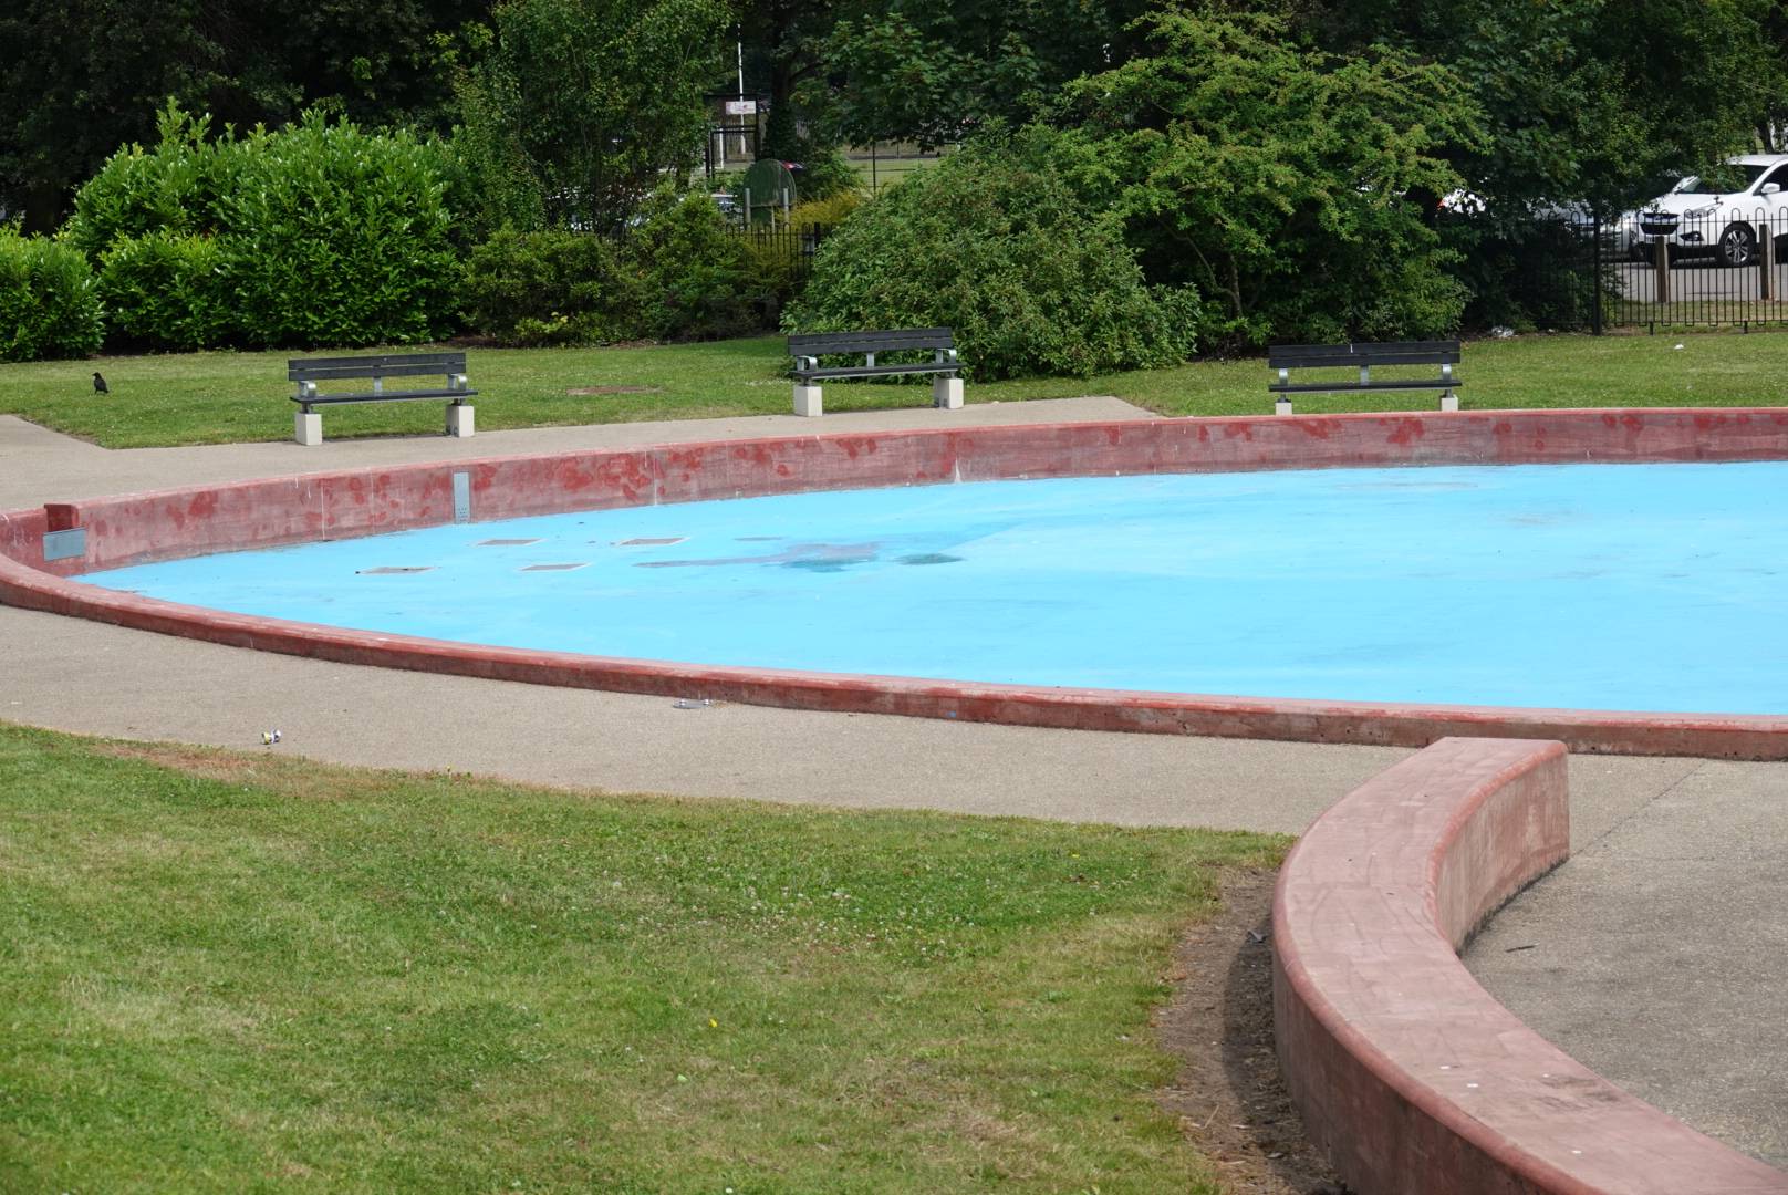
M 161 141 L 114 154 L 64 229 L 102 265 L 118 331 L 157 347 L 365 345 L 452 327 L 449 150 L 308 113 L 225 131 L 168 106 Z M 181 309 L 182 304 L 186 309 Z

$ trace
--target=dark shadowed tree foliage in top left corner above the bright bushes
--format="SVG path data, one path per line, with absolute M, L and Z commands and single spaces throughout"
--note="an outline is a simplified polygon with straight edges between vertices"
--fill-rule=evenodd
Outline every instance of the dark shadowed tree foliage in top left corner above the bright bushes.
M 0 208 L 59 224 L 168 98 L 216 125 L 322 104 L 445 131 L 451 64 L 490 0 L 13 0 L 0 5 Z

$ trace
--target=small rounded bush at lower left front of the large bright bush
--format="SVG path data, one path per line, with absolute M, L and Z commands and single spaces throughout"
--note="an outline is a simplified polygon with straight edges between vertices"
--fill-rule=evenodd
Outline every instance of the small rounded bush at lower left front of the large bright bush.
M 116 335 L 148 349 L 204 349 L 236 327 L 222 252 L 211 236 L 156 229 L 113 242 L 100 297 Z

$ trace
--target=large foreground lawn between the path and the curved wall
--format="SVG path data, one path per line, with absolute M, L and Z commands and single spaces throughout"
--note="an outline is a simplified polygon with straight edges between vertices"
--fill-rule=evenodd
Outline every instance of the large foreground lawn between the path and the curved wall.
M 1284 844 L 0 725 L 0 1190 L 1214 1191 L 1150 1013 Z

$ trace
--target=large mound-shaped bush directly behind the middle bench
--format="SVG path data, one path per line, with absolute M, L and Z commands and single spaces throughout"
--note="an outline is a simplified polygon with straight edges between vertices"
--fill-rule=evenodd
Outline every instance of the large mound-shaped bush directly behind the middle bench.
M 976 379 L 1185 360 L 1196 292 L 1148 288 L 1123 229 L 1069 184 L 1055 138 L 983 138 L 864 204 L 821 247 L 790 331 L 955 329 Z

